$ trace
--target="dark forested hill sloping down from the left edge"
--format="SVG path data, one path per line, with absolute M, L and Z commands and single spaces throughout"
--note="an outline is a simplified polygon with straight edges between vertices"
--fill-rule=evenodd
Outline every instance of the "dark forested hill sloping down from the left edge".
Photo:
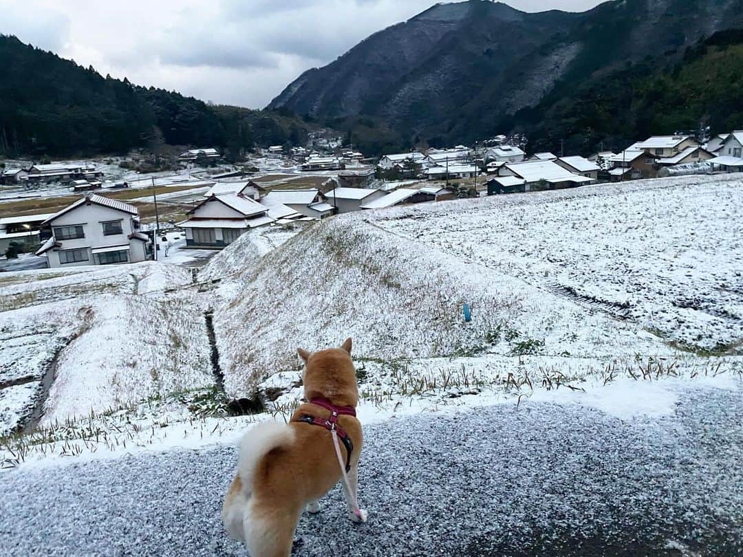
M 288 111 L 254 111 L 127 79 L 0 35 L 0 155 L 98 154 L 134 147 L 214 146 L 238 158 L 253 146 L 302 143 L 314 124 Z

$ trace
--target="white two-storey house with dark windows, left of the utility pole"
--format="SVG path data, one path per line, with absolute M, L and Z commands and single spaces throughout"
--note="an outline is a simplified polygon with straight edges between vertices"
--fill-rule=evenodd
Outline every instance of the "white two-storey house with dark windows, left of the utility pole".
M 36 255 L 45 255 L 51 268 L 148 258 L 149 236 L 139 232 L 137 208 L 117 199 L 88 193 L 46 219 L 42 227 L 51 228 L 52 234 Z

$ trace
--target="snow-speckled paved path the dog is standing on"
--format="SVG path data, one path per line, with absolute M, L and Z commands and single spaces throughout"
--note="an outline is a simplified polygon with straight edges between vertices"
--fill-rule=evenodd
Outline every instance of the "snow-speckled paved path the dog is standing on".
M 632 423 L 522 403 L 371 426 L 369 523 L 335 489 L 295 553 L 741 555 L 742 395 L 682 391 L 674 415 Z M 220 447 L 2 474 L 2 553 L 244 555 L 219 519 L 235 464 Z

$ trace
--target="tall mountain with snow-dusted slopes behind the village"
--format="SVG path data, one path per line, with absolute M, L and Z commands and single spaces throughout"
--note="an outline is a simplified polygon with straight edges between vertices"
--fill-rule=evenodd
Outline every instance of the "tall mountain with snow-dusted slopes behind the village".
M 481 139 L 533 122 L 528 109 L 628 64 L 678 61 L 699 39 L 736 26 L 743 0 L 617 0 L 585 13 L 438 4 L 305 72 L 269 108 L 385 121 L 403 143 Z

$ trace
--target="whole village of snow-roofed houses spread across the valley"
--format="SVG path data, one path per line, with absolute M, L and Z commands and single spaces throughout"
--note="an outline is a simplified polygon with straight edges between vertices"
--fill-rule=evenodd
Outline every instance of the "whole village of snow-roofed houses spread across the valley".
M 342 149 L 341 144 L 323 140 L 307 147 L 270 146 L 259 152 L 256 166 L 231 169 L 220 166 L 218 149 L 182 152 L 178 162 L 185 168 L 213 167 L 218 173 L 185 182 L 206 191 L 192 201 L 185 218 L 155 225 L 143 224 L 135 204 L 108 197 L 107 193 L 133 186 L 106 180 L 106 172 L 94 164 L 5 168 L 4 186 L 63 184 L 80 198 L 55 212 L 2 216 L 0 254 L 12 258 L 30 252 L 52 268 L 135 263 L 158 258 L 158 242 L 166 229 L 181 232 L 183 249 L 220 250 L 259 227 L 319 221 L 347 212 L 652 177 L 743 172 L 743 131 L 719 134 L 703 144 L 684 134 L 649 137 L 622 152 L 599 152 L 588 158 L 550 152 L 527 157 L 518 138 L 505 136 L 477 148 L 386 154 L 378 160 Z M 285 170 L 269 171 L 262 165 Z M 274 186 L 271 172 L 313 175 L 317 186 L 293 187 L 292 182 Z M 181 181 L 170 185 L 185 187 Z M 142 195 L 148 195 L 145 187 Z

